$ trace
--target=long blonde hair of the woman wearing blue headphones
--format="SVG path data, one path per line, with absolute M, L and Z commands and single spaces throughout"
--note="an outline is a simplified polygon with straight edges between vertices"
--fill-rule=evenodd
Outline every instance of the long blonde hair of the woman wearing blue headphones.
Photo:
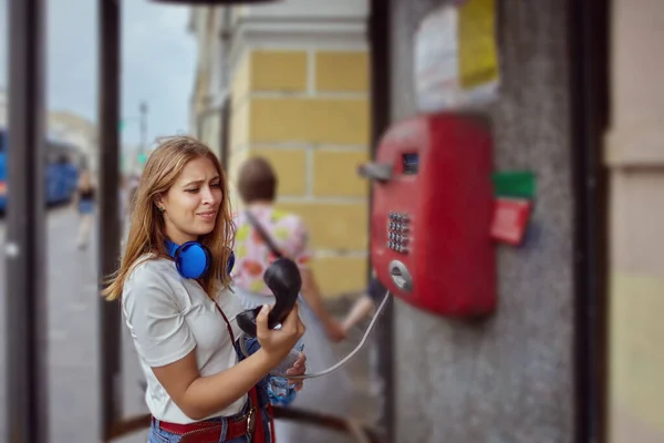
M 141 257 L 152 254 L 153 258 L 170 258 L 164 246 L 166 228 L 156 199 L 168 192 L 187 163 L 200 157 L 208 158 L 215 165 L 221 183 L 222 199 L 215 228 L 199 238 L 211 253 L 208 272 L 199 281 L 208 296 L 212 296 L 220 288 L 229 287 L 230 277 L 226 269 L 235 226 L 230 214 L 226 174 L 217 156 L 205 144 L 193 137 L 175 136 L 160 141 L 145 164 L 132 202 L 129 233 L 120 269 L 108 279 L 108 286 L 102 291 L 106 299 L 116 300 L 122 297 L 124 282 Z

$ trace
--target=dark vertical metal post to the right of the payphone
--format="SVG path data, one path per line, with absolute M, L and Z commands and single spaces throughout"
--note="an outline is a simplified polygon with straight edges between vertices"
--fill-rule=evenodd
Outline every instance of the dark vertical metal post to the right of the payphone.
M 608 179 L 602 136 L 609 126 L 606 0 L 568 1 L 574 188 L 574 442 L 608 441 Z

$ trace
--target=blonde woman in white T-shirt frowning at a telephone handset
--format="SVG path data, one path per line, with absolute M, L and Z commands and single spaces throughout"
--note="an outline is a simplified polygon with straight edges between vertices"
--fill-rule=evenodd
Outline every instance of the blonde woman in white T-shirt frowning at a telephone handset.
M 236 338 L 245 338 L 236 316 L 242 307 L 229 290 L 227 270 L 232 236 L 217 157 L 194 138 L 160 143 L 136 192 L 122 265 L 104 291 L 111 300 L 122 298 L 147 380 L 151 443 L 271 440 L 267 374 L 304 327 L 295 308 L 280 330 L 269 330 L 263 306 L 258 342 L 249 341 L 253 352 L 241 358 Z M 172 248 L 188 241 L 209 250 L 207 274 L 198 278 L 172 258 L 185 254 Z M 304 372 L 303 354 L 289 371 Z

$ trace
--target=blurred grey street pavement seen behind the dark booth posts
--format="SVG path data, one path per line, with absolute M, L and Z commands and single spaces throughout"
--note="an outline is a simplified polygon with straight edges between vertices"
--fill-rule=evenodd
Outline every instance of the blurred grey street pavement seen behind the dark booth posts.
M 6 220 L 0 219 L 0 299 L 4 300 Z M 76 215 L 69 207 L 53 208 L 48 216 L 48 287 L 49 287 L 49 362 L 50 362 L 50 433 L 53 443 L 90 443 L 98 440 L 98 331 L 96 326 L 96 241 L 85 250 L 76 248 Z M 93 231 L 92 239 L 96 238 Z M 4 303 L 0 303 L 0 322 L 4 327 Z M 126 328 L 123 331 L 123 406 L 125 415 L 146 411 L 138 388 L 141 370 L 134 356 Z M 360 331 L 361 332 L 361 331 Z M 360 337 L 349 340 L 340 349 L 350 351 Z M 0 340 L 4 356 L 6 343 Z M 366 350 L 350 367 L 355 388 L 366 388 Z M 6 367 L 0 365 L 0 435 L 6 435 Z M 371 415 L 369 400 L 361 396 L 357 413 Z M 353 408 L 355 409 L 355 408 Z M 355 412 L 355 411 L 353 411 Z M 356 416 L 364 419 L 364 416 Z M 138 432 L 118 443 L 144 443 L 146 432 Z M 350 440 L 349 440 L 350 441 Z

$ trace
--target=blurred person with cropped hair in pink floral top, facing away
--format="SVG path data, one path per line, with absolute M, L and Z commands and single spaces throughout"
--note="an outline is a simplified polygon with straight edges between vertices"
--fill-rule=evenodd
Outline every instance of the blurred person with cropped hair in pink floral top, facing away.
M 315 372 L 339 361 L 331 342 L 343 340 L 345 334 L 342 324 L 325 309 L 309 266 L 311 253 L 303 220 L 273 206 L 277 182 L 272 166 L 263 157 L 251 157 L 240 167 L 237 188 L 246 210 L 237 217 L 235 292 L 247 309 L 271 300 L 271 292 L 262 280 L 266 268 L 278 256 L 294 260 L 302 276 L 299 305 L 300 316 L 307 326 L 302 342 L 308 367 L 311 372 Z M 321 413 L 347 415 L 353 400 L 352 390 L 350 375 L 342 368 L 325 377 L 309 380 L 307 392 L 299 394 L 292 405 Z M 281 399 L 273 401 L 281 403 Z M 283 442 L 345 441 L 342 435 L 295 423 L 279 422 L 276 432 L 278 441 Z

